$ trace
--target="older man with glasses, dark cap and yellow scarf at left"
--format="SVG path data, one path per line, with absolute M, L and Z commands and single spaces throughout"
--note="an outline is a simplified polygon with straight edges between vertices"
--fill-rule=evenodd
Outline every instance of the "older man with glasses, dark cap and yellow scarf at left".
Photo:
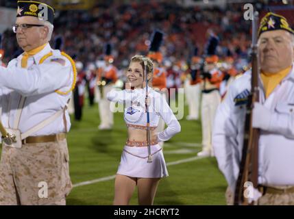
M 0 205 L 65 205 L 71 191 L 66 105 L 75 63 L 51 49 L 54 10 L 18 1 L 13 30 L 24 53 L 0 66 L 2 136 Z M 2 129 L 3 131 L 3 129 Z

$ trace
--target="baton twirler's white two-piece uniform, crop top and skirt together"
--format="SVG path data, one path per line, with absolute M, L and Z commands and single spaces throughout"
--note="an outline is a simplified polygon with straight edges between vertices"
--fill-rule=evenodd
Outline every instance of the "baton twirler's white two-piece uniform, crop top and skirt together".
M 125 102 L 124 118 L 125 123 L 132 125 L 146 126 L 147 114 L 145 113 L 145 89 L 135 90 L 114 90 L 108 92 L 108 100 L 123 103 Z M 157 127 L 160 117 L 167 124 L 167 129 L 158 133 L 158 142 L 169 140 L 175 133 L 180 132 L 180 123 L 175 118 L 171 108 L 162 96 L 148 87 L 151 104 L 149 105 L 150 127 Z M 130 103 L 132 111 L 130 110 Z M 121 155 L 121 163 L 119 164 L 120 175 L 142 178 L 160 178 L 167 177 L 167 166 L 164 161 L 161 147 L 158 144 L 151 146 L 151 154 L 153 162 L 147 163 L 147 146 L 131 147 L 125 146 Z M 136 157 L 135 155 L 139 156 Z M 146 158 L 140 158 L 146 157 Z

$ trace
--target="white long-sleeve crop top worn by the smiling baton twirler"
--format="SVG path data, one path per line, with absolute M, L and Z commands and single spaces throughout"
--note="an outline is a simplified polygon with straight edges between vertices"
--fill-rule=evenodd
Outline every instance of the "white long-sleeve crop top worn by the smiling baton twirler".
M 164 131 L 158 133 L 158 142 L 167 141 L 176 133 L 181 131 L 180 123 L 175 118 L 167 101 L 160 94 L 148 87 L 149 105 L 149 124 L 150 127 L 157 127 L 160 116 L 167 124 Z M 147 113 L 145 112 L 145 89 L 116 90 L 112 89 L 107 94 L 109 101 L 125 103 L 124 119 L 126 124 L 146 126 Z M 132 102 L 132 108 L 131 108 Z

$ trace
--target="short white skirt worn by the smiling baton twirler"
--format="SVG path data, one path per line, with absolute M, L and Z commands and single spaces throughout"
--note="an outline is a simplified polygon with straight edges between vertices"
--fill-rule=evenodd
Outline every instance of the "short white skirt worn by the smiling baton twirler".
M 167 164 L 165 164 L 161 147 L 158 144 L 151 145 L 151 155 L 152 162 L 148 163 L 147 146 L 125 146 L 117 174 L 135 178 L 168 177 Z

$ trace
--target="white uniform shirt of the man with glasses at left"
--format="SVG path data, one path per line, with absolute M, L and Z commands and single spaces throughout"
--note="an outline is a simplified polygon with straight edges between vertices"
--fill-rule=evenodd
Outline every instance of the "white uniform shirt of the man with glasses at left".
M 53 51 L 53 56 L 39 64 L 41 58 L 51 51 L 53 50 L 47 44 L 42 51 L 29 57 L 27 68 L 21 68 L 23 55 L 12 60 L 8 64 L 8 68 L 0 66 L 0 107 L 2 110 L 1 121 L 4 127 L 13 127 L 21 95 L 26 96 L 19 123 L 21 133 L 62 110 L 71 97 L 71 92 L 66 95 L 55 92 L 56 90 L 61 92 L 71 90 L 74 80 L 71 62 L 60 55 L 59 51 Z M 67 111 L 66 123 L 67 130 L 69 130 L 71 123 Z M 62 114 L 53 123 L 36 131 L 32 136 L 51 135 L 64 131 Z

